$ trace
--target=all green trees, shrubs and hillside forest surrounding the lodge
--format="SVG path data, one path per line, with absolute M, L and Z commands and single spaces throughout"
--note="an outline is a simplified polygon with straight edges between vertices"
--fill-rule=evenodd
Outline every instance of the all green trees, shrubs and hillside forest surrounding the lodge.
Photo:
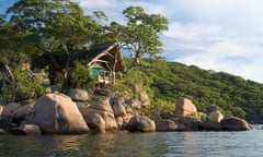
M 144 86 L 151 98 L 150 113 L 173 111 L 179 97 L 188 97 L 199 111 L 217 104 L 226 116 L 263 119 L 262 84 L 156 59 L 162 52 L 159 35 L 168 29 L 168 20 L 139 7 L 125 9 L 123 15 L 126 23 L 108 22 L 101 11 L 84 15 L 70 0 L 19 0 L 0 15 L 0 99 L 13 101 L 48 93 L 47 77 L 66 87 L 69 78 L 75 87 L 92 85 L 89 70 L 81 64 L 70 68 L 70 53 L 117 40 L 130 59 L 126 60 L 129 71 L 114 88 L 125 89 L 128 83 Z M 153 60 L 141 61 L 146 56 Z

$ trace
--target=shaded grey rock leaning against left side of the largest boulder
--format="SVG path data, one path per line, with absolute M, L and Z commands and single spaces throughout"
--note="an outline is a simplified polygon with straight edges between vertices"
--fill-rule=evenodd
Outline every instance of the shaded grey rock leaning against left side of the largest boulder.
M 22 121 L 26 120 L 33 109 L 34 105 L 25 105 L 13 111 L 12 121 L 20 124 Z

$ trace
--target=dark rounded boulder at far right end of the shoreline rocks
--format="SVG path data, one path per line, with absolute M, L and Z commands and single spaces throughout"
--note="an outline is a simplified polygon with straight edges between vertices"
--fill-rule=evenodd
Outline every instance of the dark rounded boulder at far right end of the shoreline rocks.
M 250 124 L 240 118 L 230 117 L 221 120 L 221 128 L 224 131 L 248 131 L 251 130 Z

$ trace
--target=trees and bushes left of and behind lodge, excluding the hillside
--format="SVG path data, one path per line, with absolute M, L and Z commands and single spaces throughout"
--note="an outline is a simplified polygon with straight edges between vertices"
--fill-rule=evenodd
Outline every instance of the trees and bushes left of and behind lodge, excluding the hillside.
M 168 20 L 140 7 L 128 7 L 123 15 L 125 24 L 108 21 L 102 11 L 87 15 L 71 0 L 16 1 L 0 15 L 0 100 L 35 98 L 50 90 L 45 88 L 47 77 L 38 80 L 33 72 L 37 69 L 48 74 L 52 85 L 70 87 L 70 82 L 83 87 L 92 81 L 85 75 L 89 70 L 76 64 L 70 72 L 70 56 L 95 44 L 118 41 L 130 52 L 132 67 L 145 55 L 161 53 L 159 35 L 168 29 Z

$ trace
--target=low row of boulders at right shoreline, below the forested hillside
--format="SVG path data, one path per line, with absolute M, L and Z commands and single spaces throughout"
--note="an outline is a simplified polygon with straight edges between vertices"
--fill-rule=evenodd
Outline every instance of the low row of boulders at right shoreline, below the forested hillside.
M 198 116 L 192 100 L 180 98 L 175 113 L 165 120 L 157 121 L 157 131 L 247 131 L 250 124 L 240 118 L 225 118 L 219 106 L 209 105 L 207 113 Z

